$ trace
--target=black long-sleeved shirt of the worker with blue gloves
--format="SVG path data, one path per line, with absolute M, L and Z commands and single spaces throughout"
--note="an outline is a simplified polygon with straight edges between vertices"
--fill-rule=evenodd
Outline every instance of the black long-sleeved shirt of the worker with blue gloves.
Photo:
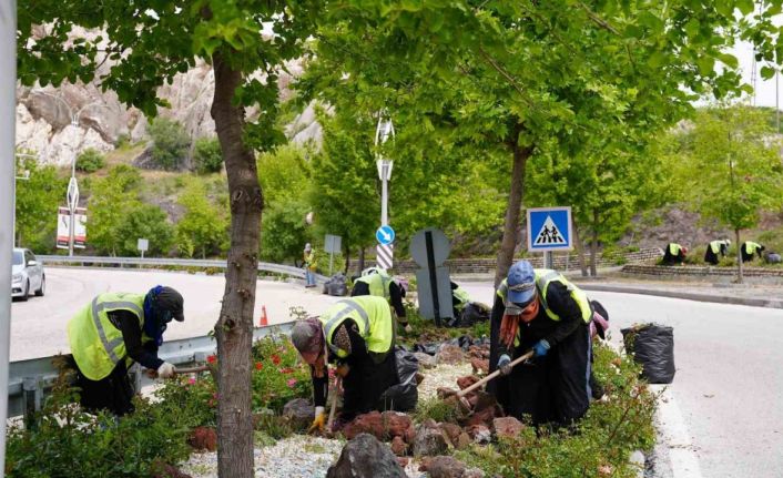
M 539 291 L 540 293 L 541 291 Z M 535 344 L 543 338 L 550 347 L 556 347 L 582 323 L 582 311 L 579 308 L 579 304 L 571 297 L 568 287 L 559 282 L 550 282 L 547 286 L 547 306 L 560 317 L 560 321 L 552 321 L 541 303 L 538 315 L 532 321 L 520 322 L 518 334 L 521 342 Z M 505 308 L 502 298 L 496 295 L 492 321 L 500 323 Z M 511 355 L 504 344 L 499 344 L 499 355 L 502 354 Z

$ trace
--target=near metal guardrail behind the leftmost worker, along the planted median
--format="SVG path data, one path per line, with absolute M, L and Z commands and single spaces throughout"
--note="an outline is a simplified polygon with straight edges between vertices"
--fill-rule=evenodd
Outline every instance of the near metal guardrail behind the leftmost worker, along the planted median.
M 253 339 L 257 340 L 272 334 L 289 334 L 293 322 L 257 327 L 253 330 Z M 157 350 L 157 356 L 176 366 L 192 366 L 203 363 L 209 355 L 213 355 L 217 344 L 210 336 L 181 338 L 164 342 Z M 31 417 L 51 391 L 52 384 L 58 377 L 57 367 L 52 360 L 57 356 L 31 358 L 28 360 L 11 362 L 8 377 L 8 418 L 24 415 Z M 141 372 L 135 364 L 131 367 L 132 383 L 135 389 L 141 390 L 145 385 L 153 383 Z

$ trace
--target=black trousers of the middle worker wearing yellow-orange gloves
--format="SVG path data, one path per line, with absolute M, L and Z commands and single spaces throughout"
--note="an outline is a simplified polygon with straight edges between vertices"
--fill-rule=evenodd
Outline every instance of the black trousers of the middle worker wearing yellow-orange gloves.
M 343 420 L 349 420 L 356 415 L 372 410 L 384 410 L 386 404 L 380 403 L 380 395 L 393 385 L 399 383 L 394 349 L 384 357 L 365 356 L 360 359 L 347 360 L 350 370 L 343 378 Z

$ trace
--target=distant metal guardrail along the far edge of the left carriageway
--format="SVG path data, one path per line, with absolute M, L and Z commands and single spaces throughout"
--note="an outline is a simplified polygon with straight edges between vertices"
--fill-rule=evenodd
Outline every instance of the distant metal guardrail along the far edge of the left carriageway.
M 125 265 L 135 266 L 179 266 L 179 267 L 217 267 L 226 268 L 226 260 L 196 260 L 196 258 L 157 258 L 157 257 L 103 257 L 103 256 L 81 256 L 81 255 L 38 255 L 44 264 L 80 264 L 91 266 L 100 264 L 110 267 L 123 267 Z M 289 275 L 304 278 L 305 272 L 301 267 L 284 264 L 273 264 L 260 262 L 258 271 L 274 274 Z M 321 274 L 315 275 L 317 282 L 326 282 L 328 277 Z

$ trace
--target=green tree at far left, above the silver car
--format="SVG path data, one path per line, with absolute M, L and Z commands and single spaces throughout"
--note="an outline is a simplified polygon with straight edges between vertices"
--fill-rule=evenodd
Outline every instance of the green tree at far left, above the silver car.
M 38 253 L 54 248 L 57 212 L 65 202 L 68 180 L 54 166 L 40 165 L 33 159 L 17 159 L 17 175 L 29 172 L 28 180 L 17 180 L 17 244 Z

